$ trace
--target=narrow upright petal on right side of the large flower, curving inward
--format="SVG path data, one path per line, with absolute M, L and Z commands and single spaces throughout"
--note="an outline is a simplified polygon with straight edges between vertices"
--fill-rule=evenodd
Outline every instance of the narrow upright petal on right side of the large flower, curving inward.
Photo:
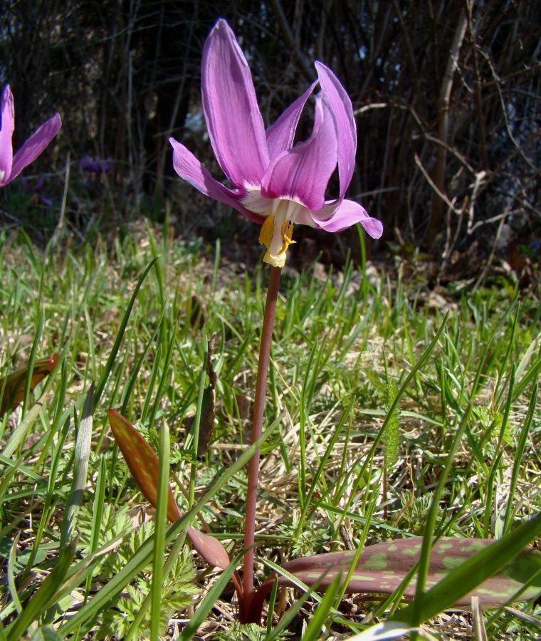
M 340 177 L 340 197 L 345 196 L 353 176 L 355 151 L 357 150 L 357 127 L 353 115 L 350 96 L 340 84 L 340 80 L 323 63 L 316 62 L 317 76 L 322 93 L 335 116 L 338 132 L 338 173 Z

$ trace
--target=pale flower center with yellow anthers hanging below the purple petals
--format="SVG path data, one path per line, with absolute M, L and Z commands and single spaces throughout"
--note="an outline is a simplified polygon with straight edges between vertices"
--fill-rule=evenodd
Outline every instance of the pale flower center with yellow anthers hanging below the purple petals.
M 285 252 L 293 240 L 293 223 L 297 219 L 303 205 L 293 200 L 273 199 L 273 211 L 263 222 L 259 242 L 265 245 L 267 251 L 263 262 L 274 267 L 283 267 Z

